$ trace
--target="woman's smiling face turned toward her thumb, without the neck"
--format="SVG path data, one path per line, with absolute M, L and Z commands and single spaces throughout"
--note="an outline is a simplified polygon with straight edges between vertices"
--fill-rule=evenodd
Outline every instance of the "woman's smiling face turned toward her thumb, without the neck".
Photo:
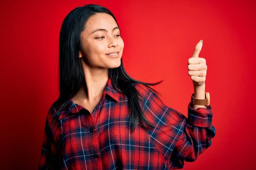
M 105 29 L 99 30 L 98 29 Z M 117 68 L 121 64 L 124 42 L 113 17 L 106 13 L 91 16 L 81 32 L 79 58 L 90 67 Z M 111 53 L 117 55 L 107 55 Z M 82 58 L 81 58 L 82 57 Z

